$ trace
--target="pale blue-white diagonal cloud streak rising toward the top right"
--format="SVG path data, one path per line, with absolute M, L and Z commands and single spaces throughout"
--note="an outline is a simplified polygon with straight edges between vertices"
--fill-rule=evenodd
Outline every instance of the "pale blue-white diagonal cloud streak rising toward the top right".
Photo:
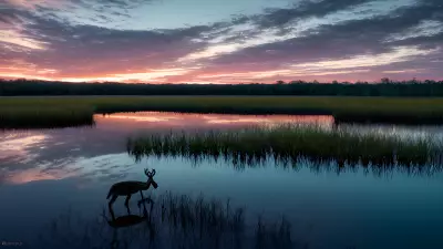
M 225 39 L 222 39 L 219 42 L 209 42 L 210 45 L 205 50 L 198 51 L 194 54 L 188 54 L 182 60 L 193 61 L 198 59 L 214 59 L 224 54 L 231 54 L 235 52 L 241 53 L 248 49 L 259 50 L 267 45 L 272 46 L 279 45 L 284 42 L 292 43 L 302 40 L 311 42 L 316 39 L 328 39 L 330 35 L 341 35 L 340 39 L 342 39 L 342 37 L 346 35 L 346 32 L 350 32 L 346 29 L 349 28 L 351 31 L 360 32 L 361 28 L 368 24 L 368 21 L 377 20 L 380 17 L 391 17 L 393 11 L 399 9 L 401 10 L 404 7 L 410 7 L 410 4 L 413 3 L 411 0 L 402 1 L 404 3 L 403 6 L 400 6 L 394 1 L 384 2 L 384 4 L 380 1 L 371 2 L 371 4 L 363 4 L 369 1 L 337 1 L 334 4 L 331 3 L 332 1 L 321 1 L 321 4 L 326 4 L 326 7 L 320 8 L 320 10 L 318 10 L 319 12 L 315 12 L 313 9 L 311 10 L 307 7 L 300 9 L 297 6 L 292 7 L 292 9 L 272 10 L 274 12 L 269 11 L 260 18 L 245 18 L 240 22 L 234 23 L 231 29 L 227 29 L 226 32 L 218 35 L 216 40 L 220 40 L 220 37 Z M 305 3 L 303 6 L 311 7 L 311 4 Z M 313 4 L 312 8 L 316 6 L 317 3 Z M 344 8 L 339 12 L 332 12 L 332 9 L 344 6 L 348 8 Z M 415 6 L 412 7 L 414 8 Z M 328 9 L 331 11 L 321 11 L 321 9 Z M 378 11 L 374 11 L 374 9 Z M 268 24 L 262 23 L 265 19 L 275 20 L 272 17 L 278 17 L 281 12 L 286 13 L 287 11 L 291 13 L 301 11 L 303 14 L 291 15 L 292 19 L 290 20 L 297 20 L 297 22 L 290 22 L 290 20 L 285 19 L 285 24 L 288 25 L 284 25 L 280 21 L 277 23 L 275 21 L 270 21 Z M 319 15 L 320 13 L 324 15 L 322 19 L 302 19 L 306 17 Z M 274 23 L 274 25 L 270 25 L 270 23 Z M 340 29 L 341 27 L 343 27 L 343 30 L 336 30 L 336 28 Z M 351 33 L 349 34 L 354 35 Z M 316 49 L 315 44 L 309 43 L 308 45 L 311 49 Z M 297 45 L 292 46 L 297 49 Z

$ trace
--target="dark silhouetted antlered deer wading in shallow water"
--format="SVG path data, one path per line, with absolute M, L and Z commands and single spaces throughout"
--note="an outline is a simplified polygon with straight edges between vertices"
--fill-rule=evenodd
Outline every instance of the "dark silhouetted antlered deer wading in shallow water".
M 126 196 L 126 200 L 125 200 L 124 205 L 127 209 L 127 212 L 131 214 L 128 203 L 130 203 L 131 196 L 137 191 L 140 191 L 140 195 L 142 196 L 142 200 L 140 200 L 137 203 L 137 206 L 140 207 L 141 201 L 145 200 L 142 191 L 147 190 L 151 187 L 151 185 L 154 188 L 158 187 L 157 183 L 155 183 L 155 180 L 153 179 L 153 177 L 155 176 L 155 169 L 152 169 L 152 172 L 150 172 L 147 168 L 145 168 L 145 175 L 147 176 L 146 183 L 127 180 L 127 181 L 120 181 L 120 183 L 112 185 L 110 188 L 110 191 L 107 193 L 107 197 L 106 197 L 106 199 L 109 199 L 112 196 L 112 198 L 109 203 L 109 208 L 112 209 L 112 205 L 119 198 L 119 196 Z

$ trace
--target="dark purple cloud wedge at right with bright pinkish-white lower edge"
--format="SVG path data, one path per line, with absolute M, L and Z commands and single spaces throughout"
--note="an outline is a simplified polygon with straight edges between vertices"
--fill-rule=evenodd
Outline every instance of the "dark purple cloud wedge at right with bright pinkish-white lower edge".
M 443 33 L 435 29 L 440 23 L 439 13 L 443 9 L 437 2 L 431 3 L 396 8 L 372 18 L 321 24 L 307 30 L 300 37 L 225 51 L 226 53 L 219 53 L 218 56 L 203 52 L 199 55 L 210 58 L 208 66 L 217 68 L 219 72 L 220 69 L 223 72 L 236 72 L 236 69 L 251 68 L 270 72 L 290 71 L 298 64 L 309 69 L 305 72 L 306 75 L 315 75 L 318 70 L 374 70 L 392 63 L 400 65 L 398 62 L 412 63 L 419 58 L 439 56 L 443 52 Z M 413 35 L 410 35 L 414 30 Z M 392 40 L 393 35 L 395 40 Z M 212 49 L 214 51 L 213 46 L 205 52 Z M 297 72 L 293 76 L 299 75 Z

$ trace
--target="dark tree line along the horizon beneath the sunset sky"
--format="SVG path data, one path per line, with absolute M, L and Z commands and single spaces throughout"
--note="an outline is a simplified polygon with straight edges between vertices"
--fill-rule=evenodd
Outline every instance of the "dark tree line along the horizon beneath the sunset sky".
M 0 79 L 0 96 L 19 95 L 443 96 L 443 81 L 395 82 L 382 79 L 377 83 L 277 81 L 272 84 L 125 84 Z

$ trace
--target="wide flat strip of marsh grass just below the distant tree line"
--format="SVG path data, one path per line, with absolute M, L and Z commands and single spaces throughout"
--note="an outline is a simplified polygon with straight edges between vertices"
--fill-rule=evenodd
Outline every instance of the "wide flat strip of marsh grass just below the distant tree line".
M 82 115 L 66 115 L 79 108 Z M 20 111 L 14 111 L 14 110 Z M 12 110 L 13 112 L 11 112 Z M 91 111 L 92 110 L 92 111 Z M 226 114 L 321 114 L 338 123 L 443 124 L 443 98 L 336 96 L 60 96 L 2 97 L 0 115 L 10 127 L 29 123 L 87 123 L 92 113 L 167 111 Z M 90 116 L 89 116 L 90 115 Z M 81 118 L 80 118 L 81 116 Z M 45 120 L 45 121 L 41 121 Z M 31 124 L 30 124 L 31 125 Z

